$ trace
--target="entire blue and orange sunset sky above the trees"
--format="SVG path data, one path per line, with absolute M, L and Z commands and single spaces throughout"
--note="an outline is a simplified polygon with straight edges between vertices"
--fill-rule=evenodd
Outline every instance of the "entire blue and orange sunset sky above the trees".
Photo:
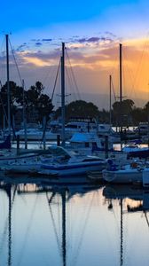
M 43 82 L 50 97 L 66 43 L 67 102 L 93 101 L 109 108 L 109 75 L 119 96 L 119 44 L 122 43 L 122 95 L 136 106 L 149 100 L 148 0 L 3 1 L 0 16 L 0 80 L 4 84 L 5 34 L 10 39 L 10 79 L 26 88 Z M 20 85 L 20 84 L 19 84 Z M 59 105 L 60 79 L 55 106 Z

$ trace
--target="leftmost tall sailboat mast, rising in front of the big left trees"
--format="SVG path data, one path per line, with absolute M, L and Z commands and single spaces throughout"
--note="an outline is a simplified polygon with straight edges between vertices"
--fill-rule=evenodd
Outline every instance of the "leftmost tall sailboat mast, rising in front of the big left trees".
M 6 39 L 6 65 L 7 65 L 8 130 L 9 130 L 9 135 L 11 135 L 11 91 L 10 91 L 10 81 L 9 81 L 9 44 L 8 44 L 8 35 L 5 35 L 5 39 Z

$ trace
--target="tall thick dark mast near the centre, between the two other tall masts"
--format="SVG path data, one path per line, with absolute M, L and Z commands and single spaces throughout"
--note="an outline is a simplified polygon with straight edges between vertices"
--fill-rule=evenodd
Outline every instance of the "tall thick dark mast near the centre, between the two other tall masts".
M 62 145 L 65 146 L 65 43 L 62 43 L 61 56 L 61 116 L 62 116 Z

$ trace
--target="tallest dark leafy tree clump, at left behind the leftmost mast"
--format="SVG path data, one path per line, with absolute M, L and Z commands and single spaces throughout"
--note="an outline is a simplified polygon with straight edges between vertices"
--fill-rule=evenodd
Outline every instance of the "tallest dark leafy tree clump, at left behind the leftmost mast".
M 38 113 L 38 121 L 43 121 L 43 116 L 46 120 L 49 120 L 49 115 L 53 109 L 51 103 L 51 98 L 46 94 L 43 94 L 43 84 L 41 82 L 36 82 L 35 86 L 31 86 L 29 90 L 24 90 L 24 99 L 27 113 Z M 18 86 L 15 82 L 10 81 L 10 99 L 11 99 L 11 116 L 14 115 L 18 107 L 23 106 L 23 88 Z M 1 89 L 1 113 L 8 113 L 8 102 L 7 102 L 7 82 Z M 4 110 L 4 112 L 3 112 Z M 1 125 L 3 124 L 3 119 L 1 118 Z

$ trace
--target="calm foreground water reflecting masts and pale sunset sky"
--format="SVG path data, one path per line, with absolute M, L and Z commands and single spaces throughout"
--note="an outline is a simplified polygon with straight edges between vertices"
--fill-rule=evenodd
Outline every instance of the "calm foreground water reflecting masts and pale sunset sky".
M 0 265 L 149 265 L 148 192 L 27 180 L 1 182 Z

